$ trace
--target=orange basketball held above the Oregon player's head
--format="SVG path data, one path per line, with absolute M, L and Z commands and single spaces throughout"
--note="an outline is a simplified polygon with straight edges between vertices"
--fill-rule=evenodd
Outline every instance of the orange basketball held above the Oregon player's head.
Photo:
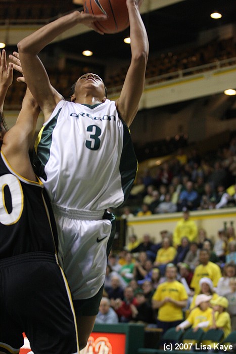
M 118 33 L 129 26 L 126 0 L 85 0 L 84 12 L 92 15 L 107 15 L 106 21 L 96 21 L 95 26 L 104 33 Z

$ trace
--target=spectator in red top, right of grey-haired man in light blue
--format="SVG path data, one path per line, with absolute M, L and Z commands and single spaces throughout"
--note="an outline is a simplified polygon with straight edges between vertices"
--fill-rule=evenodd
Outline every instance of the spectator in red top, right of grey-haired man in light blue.
M 116 299 L 111 305 L 119 317 L 119 322 L 129 322 L 137 313 L 137 299 L 134 297 L 133 289 L 127 286 L 124 289 L 124 300 Z

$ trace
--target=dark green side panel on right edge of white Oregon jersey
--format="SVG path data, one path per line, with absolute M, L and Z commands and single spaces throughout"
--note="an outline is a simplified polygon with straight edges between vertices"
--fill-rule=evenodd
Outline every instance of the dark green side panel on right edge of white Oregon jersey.
M 124 128 L 123 148 L 120 157 L 121 185 L 124 193 L 124 201 L 121 205 L 123 205 L 129 196 L 130 190 L 135 180 L 138 163 L 134 152 L 133 143 L 131 141 L 129 128 L 122 119 L 121 121 Z

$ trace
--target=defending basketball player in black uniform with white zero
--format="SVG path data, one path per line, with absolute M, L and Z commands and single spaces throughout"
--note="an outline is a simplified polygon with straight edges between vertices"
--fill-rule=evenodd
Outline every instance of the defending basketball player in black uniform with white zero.
M 0 53 L 0 107 L 13 64 Z M 77 329 L 57 260 L 49 198 L 29 159 L 39 107 L 26 91 L 15 126 L 0 112 L 0 354 L 17 354 L 27 335 L 35 354 L 78 353 Z

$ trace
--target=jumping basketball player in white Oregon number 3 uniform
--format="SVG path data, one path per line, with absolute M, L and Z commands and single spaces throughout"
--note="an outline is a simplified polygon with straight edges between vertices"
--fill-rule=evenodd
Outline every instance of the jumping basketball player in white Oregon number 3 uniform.
M 103 80 L 93 73 L 78 78 L 71 102 L 63 100 L 38 58 L 55 37 L 78 23 L 92 27 L 96 16 L 75 11 L 18 43 L 26 82 L 45 117 L 35 147 L 37 165 L 57 220 L 80 348 L 86 346 L 98 314 L 114 237 L 114 216 L 106 209 L 124 203 L 137 169 L 128 127 L 144 90 L 149 43 L 139 13 L 141 1 L 126 4 L 131 63 L 116 102 L 107 99 Z

